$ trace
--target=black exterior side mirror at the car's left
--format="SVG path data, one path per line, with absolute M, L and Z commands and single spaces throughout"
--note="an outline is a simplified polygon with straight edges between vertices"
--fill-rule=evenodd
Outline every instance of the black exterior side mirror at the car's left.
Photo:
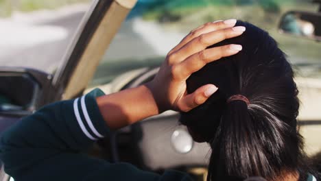
M 0 114 L 23 116 L 38 108 L 48 74 L 32 69 L 0 67 Z

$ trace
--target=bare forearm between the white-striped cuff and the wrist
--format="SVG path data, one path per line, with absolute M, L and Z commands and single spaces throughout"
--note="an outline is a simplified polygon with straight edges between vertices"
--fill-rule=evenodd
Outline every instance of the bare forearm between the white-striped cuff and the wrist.
M 97 105 L 112 130 L 159 113 L 154 97 L 145 85 L 97 97 Z

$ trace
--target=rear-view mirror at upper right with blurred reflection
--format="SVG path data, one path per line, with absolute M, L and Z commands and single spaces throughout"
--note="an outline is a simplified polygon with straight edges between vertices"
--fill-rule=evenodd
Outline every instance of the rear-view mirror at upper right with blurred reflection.
M 321 13 L 290 11 L 282 16 L 278 29 L 281 33 L 321 40 Z

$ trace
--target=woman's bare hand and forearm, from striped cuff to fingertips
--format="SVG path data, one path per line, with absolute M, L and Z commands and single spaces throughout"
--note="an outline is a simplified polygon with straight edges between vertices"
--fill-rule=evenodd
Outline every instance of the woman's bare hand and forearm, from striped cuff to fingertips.
M 187 95 L 186 80 L 205 64 L 242 49 L 240 45 L 206 49 L 241 35 L 245 27 L 234 27 L 235 23 L 236 20 L 217 21 L 194 29 L 168 53 L 152 82 L 98 97 L 97 105 L 109 128 L 117 130 L 165 110 L 186 112 L 204 103 L 217 88 L 209 84 Z

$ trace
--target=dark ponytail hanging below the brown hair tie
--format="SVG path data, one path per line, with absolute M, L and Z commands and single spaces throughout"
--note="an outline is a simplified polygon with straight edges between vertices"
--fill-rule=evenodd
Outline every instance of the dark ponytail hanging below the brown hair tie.
M 214 138 L 209 141 L 212 147 L 209 170 L 215 173 L 209 171 L 208 180 L 227 180 L 229 176 L 241 179 L 261 176 L 272 180 L 285 169 L 295 173 L 295 169 L 285 167 L 285 161 L 287 165 L 298 163 L 297 144 L 294 147 L 285 144 L 297 136 L 295 130 L 283 135 L 288 129 L 288 125 L 264 108 L 247 106 L 243 101 L 230 102 Z M 287 149 L 296 153 L 287 154 Z

